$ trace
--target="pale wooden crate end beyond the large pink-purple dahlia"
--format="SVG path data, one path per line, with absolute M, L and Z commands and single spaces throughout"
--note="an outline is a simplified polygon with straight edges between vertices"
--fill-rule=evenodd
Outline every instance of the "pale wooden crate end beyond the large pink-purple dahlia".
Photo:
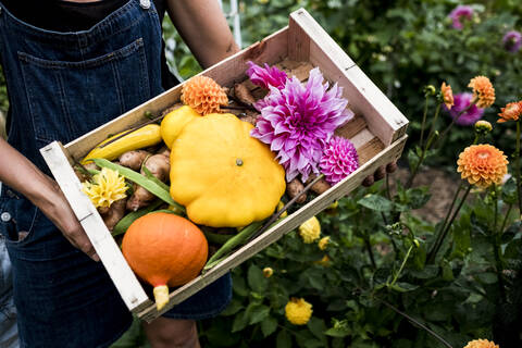
M 344 87 L 344 97 L 348 99 L 350 109 L 366 119 L 370 130 L 385 146 L 406 134 L 408 120 L 306 10 L 290 14 L 289 30 L 288 52 L 296 50 L 293 49 L 295 41 L 304 41 L 302 36 L 308 37 L 309 55 L 306 60 L 321 66 L 327 79 Z M 291 39 L 291 33 L 299 33 L 297 40 Z M 304 59 L 304 54 L 299 52 L 298 57 Z M 290 55 L 290 59 L 294 58 Z

